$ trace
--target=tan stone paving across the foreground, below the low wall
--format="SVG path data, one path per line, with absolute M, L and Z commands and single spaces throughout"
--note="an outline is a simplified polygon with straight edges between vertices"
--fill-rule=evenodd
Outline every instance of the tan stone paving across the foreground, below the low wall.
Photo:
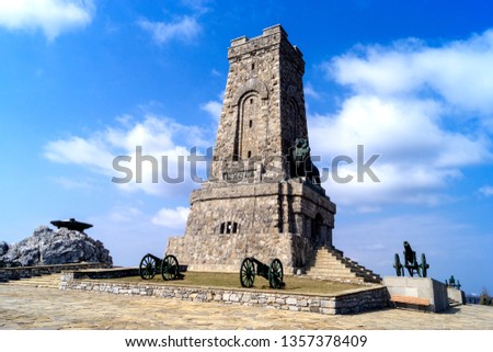
M 0 329 L 492 330 L 493 307 L 325 316 L 261 307 L 0 284 Z

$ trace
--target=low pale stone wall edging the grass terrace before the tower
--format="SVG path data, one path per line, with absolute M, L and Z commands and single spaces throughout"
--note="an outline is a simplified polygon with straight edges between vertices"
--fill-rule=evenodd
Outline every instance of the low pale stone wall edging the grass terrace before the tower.
M 190 287 L 175 284 L 140 284 L 128 282 L 104 282 L 77 279 L 80 273 L 64 272 L 60 289 L 82 289 L 118 295 L 156 296 L 194 302 L 216 302 L 244 306 L 260 306 L 271 309 L 311 311 L 319 314 L 355 314 L 382 309 L 388 294 L 383 286 L 352 291 L 336 296 L 285 294 L 257 289 L 228 289 L 213 287 Z

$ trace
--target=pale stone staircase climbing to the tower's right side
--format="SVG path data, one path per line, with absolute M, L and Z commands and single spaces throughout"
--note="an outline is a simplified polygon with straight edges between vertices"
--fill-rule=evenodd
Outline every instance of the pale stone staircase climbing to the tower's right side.
M 381 277 L 371 270 L 344 257 L 342 251 L 325 247 L 317 251 L 314 262 L 308 269 L 307 275 L 323 280 L 381 283 Z

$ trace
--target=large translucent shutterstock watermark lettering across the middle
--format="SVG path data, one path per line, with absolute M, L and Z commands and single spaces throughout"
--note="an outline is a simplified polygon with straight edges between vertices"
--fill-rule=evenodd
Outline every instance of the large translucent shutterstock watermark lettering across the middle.
M 323 183 L 332 179 L 336 183 L 349 182 L 380 182 L 375 171 L 371 169 L 374 163 L 380 155 L 371 155 L 365 159 L 365 146 L 358 145 L 356 147 L 356 157 L 341 155 L 334 157 L 330 161 L 330 168 L 323 167 L 324 160 L 320 156 L 310 156 L 310 166 L 316 170 L 317 182 Z M 113 169 L 119 173 L 118 177 L 113 177 L 112 182 L 124 183 L 142 183 L 142 182 L 165 182 L 165 183 L 182 183 L 185 182 L 185 175 L 193 182 L 203 183 L 208 182 L 227 182 L 238 183 L 245 180 L 253 180 L 261 182 L 278 182 L 286 179 L 286 170 L 289 170 L 289 163 L 296 163 L 291 170 L 293 177 L 306 177 L 306 169 L 298 171 L 299 162 L 306 163 L 308 160 L 296 161 L 288 156 L 251 156 L 248 159 L 240 157 L 230 157 L 225 160 L 217 160 L 220 168 L 217 172 L 219 178 L 211 178 L 210 167 L 213 163 L 213 147 L 208 147 L 205 154 L 198 155 L 197 147 L 191 148 L 187 156 L 167 156 L 160 158 L 151 155 L 145 155 L 142 146 L 136 146 L 134 156 L 118 156 L 113 159 Z M 313 166 L 317 162 L 322 164 L 321 171 Z M 233 171 L 231 171 L 233 169 Z M 203 177 L 199 175 L 202 171 Z M 146 180 L 145 180 L 146 179 Z

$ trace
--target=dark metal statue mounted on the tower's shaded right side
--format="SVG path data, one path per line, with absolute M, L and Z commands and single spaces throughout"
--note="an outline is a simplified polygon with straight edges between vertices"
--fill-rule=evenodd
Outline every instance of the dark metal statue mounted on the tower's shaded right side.
M 320 185 L 320 171 L 311 161 L 310 146 L 307 139 L 296 138 L 289 157 L 291 178 L 307 178 L 313 184 Z

